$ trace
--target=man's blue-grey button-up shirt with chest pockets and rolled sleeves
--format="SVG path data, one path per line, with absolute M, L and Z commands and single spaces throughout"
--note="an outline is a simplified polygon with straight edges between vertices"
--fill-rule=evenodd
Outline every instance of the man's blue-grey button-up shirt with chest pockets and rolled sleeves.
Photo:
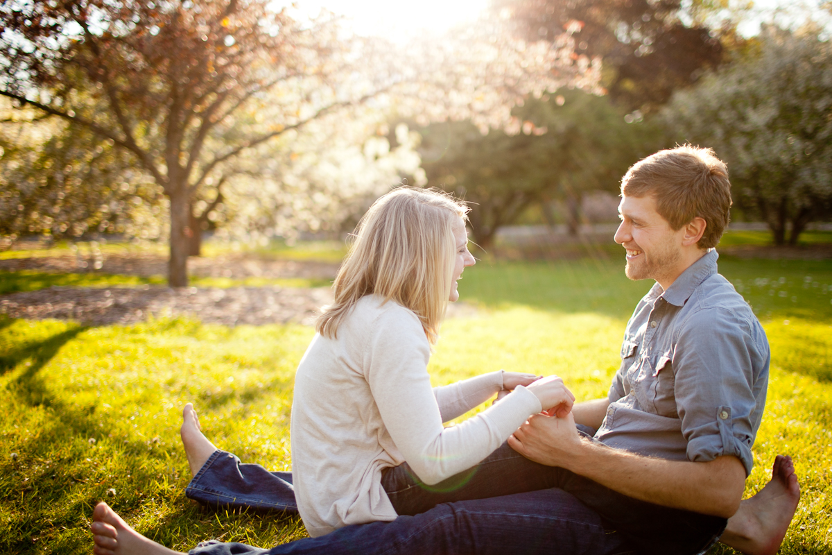
M 735 455 L 751 472 L 770 350 L 711 250 L 665 291 L 653 285 L 626 326 L 622 365 L 596 438 L 672 460 Z

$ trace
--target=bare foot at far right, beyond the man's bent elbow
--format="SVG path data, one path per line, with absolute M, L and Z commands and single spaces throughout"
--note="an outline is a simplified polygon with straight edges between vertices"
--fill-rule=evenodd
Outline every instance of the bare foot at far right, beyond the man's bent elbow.
M 791 457 L 777 455 L 770 482 L 740 503 L 740 510 L 728 519 L 721 543 L 746 555 L 774 555 L 799 501 L 800 484 Z

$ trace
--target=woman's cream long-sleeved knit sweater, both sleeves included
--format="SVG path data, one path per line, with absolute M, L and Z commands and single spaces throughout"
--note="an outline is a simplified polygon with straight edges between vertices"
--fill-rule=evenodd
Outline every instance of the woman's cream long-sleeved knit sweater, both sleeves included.
M 462 424 L 443 428 L 503 388 L 502 372 L 431 388 L 430 345 L 418 317 L 368 295 L 336 339 L 316 334 L 295 376 L 292 477 L 310 536 L 396 518 L 381 471 L 407 461 L 428 484 L 471 468 L 531 415 L 521 387 Z

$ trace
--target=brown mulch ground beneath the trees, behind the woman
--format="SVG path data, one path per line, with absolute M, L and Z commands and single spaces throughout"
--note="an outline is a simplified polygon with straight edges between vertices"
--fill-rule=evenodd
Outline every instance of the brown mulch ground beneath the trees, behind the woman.
M 47 273 L 165 275 L 167 260 L 157 255 L 107 255 L 95 260 L 71 255 L 0 260 L 0 270 Z M 337 264 L 317 261 L 273 260 L 252 255 L 191 258 L 191 275 L 205 277 L 334 279 Z M 156 318 L 187 316 L 206 324 L 265 325 L 298 322 L 310 325 L 320 307 L 333 301 L 329 287 L 231 287 L 171 289 L 141 287 L 50 287 L 0 295 L 0 314 L 27 320 L 76 320 L 85 325 L 131 325 Z M 474 315 L 471 305 L 453 304 L 448 316 Z

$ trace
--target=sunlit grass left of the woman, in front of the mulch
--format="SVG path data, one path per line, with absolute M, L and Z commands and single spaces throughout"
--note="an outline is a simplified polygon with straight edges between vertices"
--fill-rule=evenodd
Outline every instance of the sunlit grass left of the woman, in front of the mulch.
M 186 320 L 0 327 L 0 552 L 89 552 L 87 518 L 102 498 L 176 548 L 299 532 L 295 520 L 226 518 L 188 503 L 177 432 L 192 400 L 217 444 L 287 468 L 291 383 L 312 330 Z

